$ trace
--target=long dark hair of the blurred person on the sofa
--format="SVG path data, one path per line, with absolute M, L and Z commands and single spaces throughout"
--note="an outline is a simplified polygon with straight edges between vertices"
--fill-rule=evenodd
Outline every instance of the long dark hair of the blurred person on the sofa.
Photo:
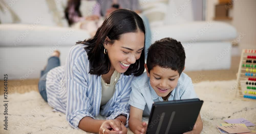
M 69 18 L 69 9 L 74 6 L 74 10 L 75 10 L 75 14 L 78 16 L 78 17 L 82 17 L 82 14 L 79 10 L 79 7 L 81 5 L 81 0 L 69 0 L 68 1 L 68 4 L 67 4 L 67 7 L 65 8 L 65 18 L 68 20 L 68 24 L 69 26 L 72 25 L 74 22 L 72 20 L 72 18 Z

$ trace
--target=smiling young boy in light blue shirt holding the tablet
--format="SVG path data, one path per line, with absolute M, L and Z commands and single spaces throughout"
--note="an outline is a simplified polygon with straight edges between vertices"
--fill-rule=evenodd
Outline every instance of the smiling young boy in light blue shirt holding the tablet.
M 182 44 L 175 39 L 164 38 L 150 46 L 145 64 L 147 72 L 132 81 L 128 102 L 132 132 L 146 133 L 147 124 L 142 122 L 142 115 L 150 114 L 153 102 L 197 98 L 191 78 L 182 72 L 185 58 Z M 199 114 L 193 130 L 187 133 L 199 134 L 202 128 Z

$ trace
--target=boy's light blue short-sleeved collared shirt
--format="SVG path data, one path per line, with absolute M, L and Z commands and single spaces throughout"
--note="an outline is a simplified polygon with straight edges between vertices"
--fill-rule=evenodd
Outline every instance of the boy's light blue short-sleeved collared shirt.
M 128 103 L 133 107 L 143 110 L 143 115 L 145 116 L 150 115 L 153 102 L 163 101 L 162 97 L 158 96 L 151 87 L 147 72 L 135 77 L 131 86 L 132 92 Z M 194 98 L 197 98 L 197 95 L 192 80 L 182 72 L 178 84 L 171 92 L 168 101 Z

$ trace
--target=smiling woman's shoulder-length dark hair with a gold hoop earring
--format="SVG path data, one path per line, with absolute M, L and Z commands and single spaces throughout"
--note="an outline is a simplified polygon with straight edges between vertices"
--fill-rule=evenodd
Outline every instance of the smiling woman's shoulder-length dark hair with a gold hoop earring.
M 141 17 L 132 10 L 118 9 L 109 14 L 103 24 L 97 29 L 94 37 L 78 41 L 77 43 L 86 44 L 84 48 L 87 51 L 90 61 L 90 72 L 94 75 L 103 75 L 109 72 L 111 64 L 108 54 L 104 54 L 103 43 L 113 44 L 119 40 L 122 34 L 143 32 L 145 40 L 145 26 Z M 106 37 L 110 41 L 105 41 Z M 145 63 L 145 41 L 141 57 L 124 72 L 124 75 L 140 76 L 144 72 Z

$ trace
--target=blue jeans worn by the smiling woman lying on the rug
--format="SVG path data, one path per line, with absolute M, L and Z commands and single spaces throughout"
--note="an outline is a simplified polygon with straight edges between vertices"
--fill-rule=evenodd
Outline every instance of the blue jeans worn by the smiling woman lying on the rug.
M 38 90 L 41 94 L 42 98 L 47 102 L 47 93 L 46 93 L 46 75 L 47 73 L 55 67 L 60 66 L 60 59 L 59 57 L 50 57 L 48 59 L 48 63 L 46 65 L 45 70 L 41 71 L 40 79 L 38 82 Z

